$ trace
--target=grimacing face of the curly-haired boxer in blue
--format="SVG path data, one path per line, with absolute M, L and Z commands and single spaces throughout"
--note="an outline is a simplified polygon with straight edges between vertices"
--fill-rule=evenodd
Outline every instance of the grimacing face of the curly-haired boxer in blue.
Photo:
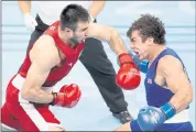
M 146 41 L 142 42 L 142 37 L 139 31 L 133 31 L 130 36 L 130 47 L 138 55 L 140 59 L 148 59 L 149 45 Z

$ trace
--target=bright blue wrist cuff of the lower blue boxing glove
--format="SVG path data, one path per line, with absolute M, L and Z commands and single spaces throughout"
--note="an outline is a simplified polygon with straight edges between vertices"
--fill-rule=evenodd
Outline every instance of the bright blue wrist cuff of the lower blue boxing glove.
M 161 110 L 165 113 L 166 119 L 171 119 L 176 113 L 176 109 L 171 102 L 163 105 Z

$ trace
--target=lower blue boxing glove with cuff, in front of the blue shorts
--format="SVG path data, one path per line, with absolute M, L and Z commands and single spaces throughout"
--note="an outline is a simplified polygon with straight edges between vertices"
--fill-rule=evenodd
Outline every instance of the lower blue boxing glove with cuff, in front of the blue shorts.
M 168 102 L 161 108 L 144 107 L 138 114 L 138 123 L 142 131 L 154 131 L 160 124 L 176 113 L 175 108 Z

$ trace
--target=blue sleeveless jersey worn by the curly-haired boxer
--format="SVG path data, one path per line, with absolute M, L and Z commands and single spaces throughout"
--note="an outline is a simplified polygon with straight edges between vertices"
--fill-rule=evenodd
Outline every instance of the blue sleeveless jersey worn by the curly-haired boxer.
M 160 58 L 162 58 L 165 55 L 172 55 L 172 56 L 176 57 L 177 59 L 179 59 L 181 63 L 182 63 L 182 65 L 183 65 L 183 68 L 185 70 L 185 73 L 186 73 L 186 69 L 185 69 L 185 66 L 184 66 L 182 59 L 171 48 L 164 50 L 154 59 L 154 62 L 151 64 L 151 66 L 148 69 L 146 77 L 145 77 L 145 80 L 144 80 L 144 85 L 145 85 L 145 92 L 146 92 L 148 105 L 149 106 L 154 106 L 154 107 L 157 107 L 157 108 L 161 107 L 161 106 L 163 106 L 163 105 L 165 105 L 166 102 L 168 102 L 171 100 L 171 98 L 174 96 L 174 94 L 170 89 L 165 89 L 165 88 L 159 86 L 154 81 L 155 75 L 156 75 L 157 63 L 159 63 Z

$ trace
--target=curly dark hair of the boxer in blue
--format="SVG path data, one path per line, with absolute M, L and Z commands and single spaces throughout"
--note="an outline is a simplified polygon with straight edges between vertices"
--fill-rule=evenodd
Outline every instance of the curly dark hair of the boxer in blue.
M 159 18 L 151 14 L 142 14 L 140 19 L 134 21 L 127 32 L 128 37 L 133 31 L 139 31 L 144 43 L 148 37 L 153 37 L 154 43 L 165 44 L 165 29 L 164 24 Z

